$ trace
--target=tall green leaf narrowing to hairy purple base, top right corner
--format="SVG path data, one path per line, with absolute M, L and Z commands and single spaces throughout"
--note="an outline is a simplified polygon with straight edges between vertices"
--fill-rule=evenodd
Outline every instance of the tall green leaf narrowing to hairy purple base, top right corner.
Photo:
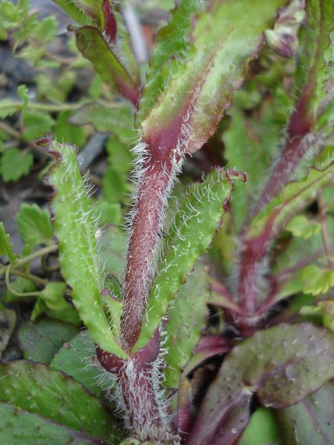
M 331 52 L 332 45 L 330 32 L 333 28 L 334 3 L 327 0 L 307 0 L 306 14 L 306 23 L 300 36 L 301 51 L 296 73 L 295 91 L 298 102 L 287 126 L 285 147 L 271 172 L 254 214 L 280 192 L 304 155 L 320 141 L 320 134 L 315 133 L 317 117 L 322 112 L 324 102 L 328 102 L 331 97 L 330 93 L 327 94 L 326 100 L 326 87 L 329 87 L 327 77 L 331 78 L 333 74 L 326 70 L 327 65 L 331 67 L 333 64 L 333 55 L 328 57 L 328 53 Z M 312 132 L 313 135 L 309 135 Z

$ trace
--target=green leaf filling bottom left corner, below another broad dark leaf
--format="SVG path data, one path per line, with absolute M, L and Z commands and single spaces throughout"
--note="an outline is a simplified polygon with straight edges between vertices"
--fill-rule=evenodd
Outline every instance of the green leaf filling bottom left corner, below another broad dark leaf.
M 0 403 L 0 442 L 10 445 L 94 445 L 96 438 L 21 407 Z

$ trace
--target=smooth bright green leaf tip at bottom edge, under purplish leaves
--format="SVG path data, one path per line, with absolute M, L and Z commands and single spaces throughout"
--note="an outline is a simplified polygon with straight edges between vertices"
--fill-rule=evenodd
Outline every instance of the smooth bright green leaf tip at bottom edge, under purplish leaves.
M 274 411 L 264 407 L 256 409 L 238 445 L 284 445 Z

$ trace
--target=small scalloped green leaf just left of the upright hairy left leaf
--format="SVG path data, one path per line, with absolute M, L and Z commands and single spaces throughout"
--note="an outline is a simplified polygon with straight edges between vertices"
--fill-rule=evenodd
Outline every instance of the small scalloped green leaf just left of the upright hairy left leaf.
M 38 205 L 23 203 L 16 214 L 19 233 L 25 244 L 32 250 L 38 244 L 45 244 L 52 238 L 50 215 Z

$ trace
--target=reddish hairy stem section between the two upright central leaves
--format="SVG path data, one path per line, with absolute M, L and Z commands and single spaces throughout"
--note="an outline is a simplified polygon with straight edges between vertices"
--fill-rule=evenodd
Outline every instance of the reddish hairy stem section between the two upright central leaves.
M 154 263 L 172 166 L 170 161 L 144 161 L 131 225 L 124 278 L 122 347 L 131 352 L 137 341 L 155 273 Z

